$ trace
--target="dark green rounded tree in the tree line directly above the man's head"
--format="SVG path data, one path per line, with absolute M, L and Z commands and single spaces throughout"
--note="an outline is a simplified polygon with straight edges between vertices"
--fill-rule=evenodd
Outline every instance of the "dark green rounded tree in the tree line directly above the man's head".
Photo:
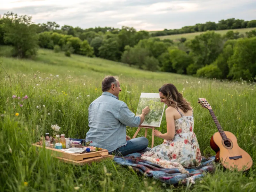
M 99 48 L 99 56 L 104 59 L 118 61 L 121 52 L 116 38 L 108 38 L 103 40 L 103 44 Z

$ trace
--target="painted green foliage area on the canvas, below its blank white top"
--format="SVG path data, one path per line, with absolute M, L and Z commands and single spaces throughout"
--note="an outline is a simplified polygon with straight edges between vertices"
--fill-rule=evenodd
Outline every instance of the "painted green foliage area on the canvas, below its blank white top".
M 147 106 L 150 112 L 145 116 L 143 125 L 158 126 L 164 110 L 164 103 L 161 103 L 159 98 L 140 98 L 136 115 L 139 116 L 142 109 Z

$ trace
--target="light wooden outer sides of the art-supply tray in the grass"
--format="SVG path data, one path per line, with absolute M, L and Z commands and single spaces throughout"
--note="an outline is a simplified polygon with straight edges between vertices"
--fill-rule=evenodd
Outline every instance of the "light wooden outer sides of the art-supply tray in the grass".
M 41 147 L 41 145 L 37 145 L 32 143 L 32 145 L 36 147 Z M 85 146 L 84 146 L 85 147 Z M 108 156 L 108 150 L 103 149 L 101 151 L 95 151 L 95 152 L 90 152 L 90 153 L 83 153 L 83 154 L 76 154 L 76 153 L 67 153 L 65 151 L 61 151 L 60 149 L 55 149 L 55 148 L 50 148 L 50 147 L 45 147 L 46 149 L 52 150 L 52 155 L 56 157 L 61 157 L 64 159 L 70 159 L 74 161 L 82 161 L 86 158 L 91 158 L 91 157 L 101 157 L 101 156 Z

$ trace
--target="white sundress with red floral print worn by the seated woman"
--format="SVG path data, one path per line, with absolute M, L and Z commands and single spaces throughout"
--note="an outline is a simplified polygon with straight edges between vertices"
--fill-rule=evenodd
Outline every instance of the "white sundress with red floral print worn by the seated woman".
M 187 173 L 184 168 L 197 167 L 201 162 L 201 152 L 193 132 L 194 117 L 184 116 L 180 110 L 181 118 L 175 119 L 175 135 L 172 140 L 152 148 L 141 155 L 141 159 L 159 164 L 165 168 L 178 168 L 180 172 Z

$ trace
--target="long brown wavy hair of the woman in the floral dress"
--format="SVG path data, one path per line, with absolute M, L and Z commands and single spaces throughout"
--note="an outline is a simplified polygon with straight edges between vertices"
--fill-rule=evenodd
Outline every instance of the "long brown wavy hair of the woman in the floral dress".
M 159 90 L 167 98 L 166 105 L 174 108 L 180 108 L 187 113 L 190 108 L 190 103 L 183 98 L 182 94 L 178 92 L 177 88 L 173 84 L 164 84 Z

